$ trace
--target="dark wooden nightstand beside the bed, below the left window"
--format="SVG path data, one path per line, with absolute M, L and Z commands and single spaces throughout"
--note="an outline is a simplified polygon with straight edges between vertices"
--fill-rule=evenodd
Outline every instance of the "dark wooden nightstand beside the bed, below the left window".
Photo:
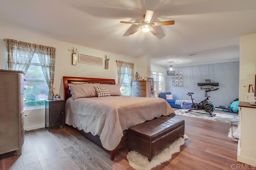
M 65 121 L 65 100 L 45 100 L 45 128 L 61 125 Z

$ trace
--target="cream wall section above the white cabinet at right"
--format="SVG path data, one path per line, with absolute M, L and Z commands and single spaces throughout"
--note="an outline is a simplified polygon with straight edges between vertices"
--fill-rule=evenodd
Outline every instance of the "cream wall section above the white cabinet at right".
M 239 100 L 244 101 L 249 84 L 255 85 L 256 33 L 240 37 Z M 255 90 L 255 89 L 254 89 Z M 250 91 L 252 92 L 252 91 Z

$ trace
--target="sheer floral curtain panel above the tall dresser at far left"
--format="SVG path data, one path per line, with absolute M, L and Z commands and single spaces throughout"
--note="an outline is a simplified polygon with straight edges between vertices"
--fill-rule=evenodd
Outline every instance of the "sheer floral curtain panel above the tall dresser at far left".
M 36 44 L 4 39 L 8 55 L 8 70 L 27 72 L 36 50 Z

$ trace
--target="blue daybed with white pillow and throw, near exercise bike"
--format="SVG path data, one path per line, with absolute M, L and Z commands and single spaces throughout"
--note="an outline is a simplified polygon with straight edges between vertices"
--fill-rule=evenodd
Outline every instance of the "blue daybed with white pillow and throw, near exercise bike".
M 191 100 L 183 100 L 183 99 L 166 99 L 166 95 L 172 94 L 171 92 L 162 92 L 159 93 L 159 98 L 163 98 L 170 104 L 171 107 L 175 107 L 178 109 L 188 109 L 192 106 Z

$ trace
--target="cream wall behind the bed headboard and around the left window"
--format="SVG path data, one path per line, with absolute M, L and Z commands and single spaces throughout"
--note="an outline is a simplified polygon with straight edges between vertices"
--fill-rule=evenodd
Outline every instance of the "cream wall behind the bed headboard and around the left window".
M 76 76 L 76 77 L 94 77 L 94 78 L 112 78 L 117 82 L 117 69 L 116 60 L 126 61 L 134 63 L 134 71 L 137 66 L 146 67 L 146 63 L 139 63 L 140 60 L 132 59 L 128 56 L 117 55 L 108 53 L 106 51 L 100 51 L 81 45 L 71 44 L 48 37 L 43 37 L 33 33 L 17 31 L 14 29 L 7 29 L 0 27 L 0 69 L 7 69 L 7 54 L 4 39 L 15 39 L 18 41 L 25 41 L 28 43 L 34 43 L 38 45 L 46 45 L 50 47 L 56 47 L 56 66 L 55 66 L 55 79 L 54 79 L 54 93 L 60 94 L 64 98 L 63 76 Z M 89 40 L 85 40 L 89 41 Z M 110 55 L 111 60 L 108 64 L 108 69 L 104 69 L 103 66 L 96 66 L 90 64 L 78 63 L 77 65 L 71 64 L 71 53 L 68 51 L 71 47 L 77 48 L 81 54 L 91 55 L 95 57 L 102 57 L 104 55 Z M 145 66 L 144 66 L 145 65 Z M 136 72 L 136 71 L 135 71 Z M 27 115 L 25 120 L 25 129 L 33 129 L 33 127 L 44 127 L 44 114 L 45 109 L 26 110 Z

